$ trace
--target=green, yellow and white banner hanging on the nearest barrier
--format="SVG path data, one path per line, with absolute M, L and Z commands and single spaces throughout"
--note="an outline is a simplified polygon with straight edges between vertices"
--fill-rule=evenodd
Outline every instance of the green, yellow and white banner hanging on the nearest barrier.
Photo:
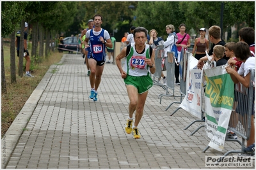
M 230 119 L 234 82 L 225 66 L 205 69 L 205 132 L 211 139 L 208 146 L 224 151 L 225 136 Z

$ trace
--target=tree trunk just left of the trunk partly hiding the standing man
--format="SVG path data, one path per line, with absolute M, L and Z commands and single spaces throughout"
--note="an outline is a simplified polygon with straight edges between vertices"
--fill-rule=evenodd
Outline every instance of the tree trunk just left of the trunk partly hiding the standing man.
M 16 80 L 16 63 L 15 63 L 15 34 L 16 31 L 13 31 L 11 34 L 11 50 L 10 50 L 10 62 L 11 62 L 11 83 L 17 83 Z

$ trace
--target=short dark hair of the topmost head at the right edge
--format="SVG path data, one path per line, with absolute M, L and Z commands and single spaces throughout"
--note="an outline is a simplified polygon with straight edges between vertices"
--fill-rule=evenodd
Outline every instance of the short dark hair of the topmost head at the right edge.
M 255 31 L 252 27 L 244 27 L 241 28 L 238 32 L 238 35 L 240 36 L 240 39 L 242 39 L 244 42 L 248 43 L 248 45 L 252 45 L 255 41 Z

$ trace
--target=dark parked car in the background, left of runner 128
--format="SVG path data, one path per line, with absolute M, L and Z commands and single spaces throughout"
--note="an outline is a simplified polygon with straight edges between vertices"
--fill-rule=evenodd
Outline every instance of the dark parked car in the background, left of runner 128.
M 76 36 L 69 36 L 63 39 L 63 44 L 58 45 L 58 51 L 67 51 L 68 53 L 79 52 L 79 43 Z

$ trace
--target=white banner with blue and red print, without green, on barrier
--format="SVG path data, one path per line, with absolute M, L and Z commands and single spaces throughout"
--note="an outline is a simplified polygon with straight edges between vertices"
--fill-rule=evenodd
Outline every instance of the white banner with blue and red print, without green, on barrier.
M 201 89 L 202 89 L 202 77 L 203 71 L 197 69 L 196 65 L 198 60 L 189 55 L 189 64 L 187 70 L 187 94 L 184 97 L 180 108 L 188 111 L 195 117 L 201 118 L 202 102 L 201 102 Z

